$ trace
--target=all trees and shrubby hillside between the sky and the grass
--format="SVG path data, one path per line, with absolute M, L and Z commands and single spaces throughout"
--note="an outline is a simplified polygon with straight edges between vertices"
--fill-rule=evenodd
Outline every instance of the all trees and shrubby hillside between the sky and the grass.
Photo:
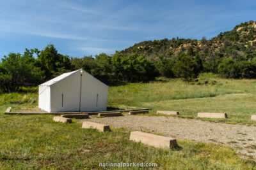
M 9 53 L 0 62 L 0 90 L 17 91 L 80 68 L 108 84 L 147 82 L 157 76 L 191 81 L 204 72 L 256 78 L 256 22 L 244 22 L 208 40 L 143 41 L 113 55 L 69 57 L 58 53 L 52 44 L 42 51 Z

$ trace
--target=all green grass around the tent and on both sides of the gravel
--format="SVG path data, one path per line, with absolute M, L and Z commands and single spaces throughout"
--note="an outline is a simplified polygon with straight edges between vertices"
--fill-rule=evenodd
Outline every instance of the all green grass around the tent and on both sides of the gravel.
M 202 74 L 194 85 L 159 80 L 109 87 L 108 103 L 152 108 L 149 115 L 175 110 L 186 118 L 198 111 L 226 112 L 226 122 L 256 125 L 250 120 L 256 110 L 255 85 L 255 80 Z M 37 94 L 27 90 L 0 95 L 0 169 L 100 169 L 100 162 L 157 163 L 158 169 L 256 169 L 255 162 L 239 158 L 227 146 L 177 141 L 179 149 L 153 148 L 129 141 L 128 129 L 97 132 L 81 129 L 76 120 L 52 122 L 52 115 L 4 115 L 8 106 L 36 108 Z

